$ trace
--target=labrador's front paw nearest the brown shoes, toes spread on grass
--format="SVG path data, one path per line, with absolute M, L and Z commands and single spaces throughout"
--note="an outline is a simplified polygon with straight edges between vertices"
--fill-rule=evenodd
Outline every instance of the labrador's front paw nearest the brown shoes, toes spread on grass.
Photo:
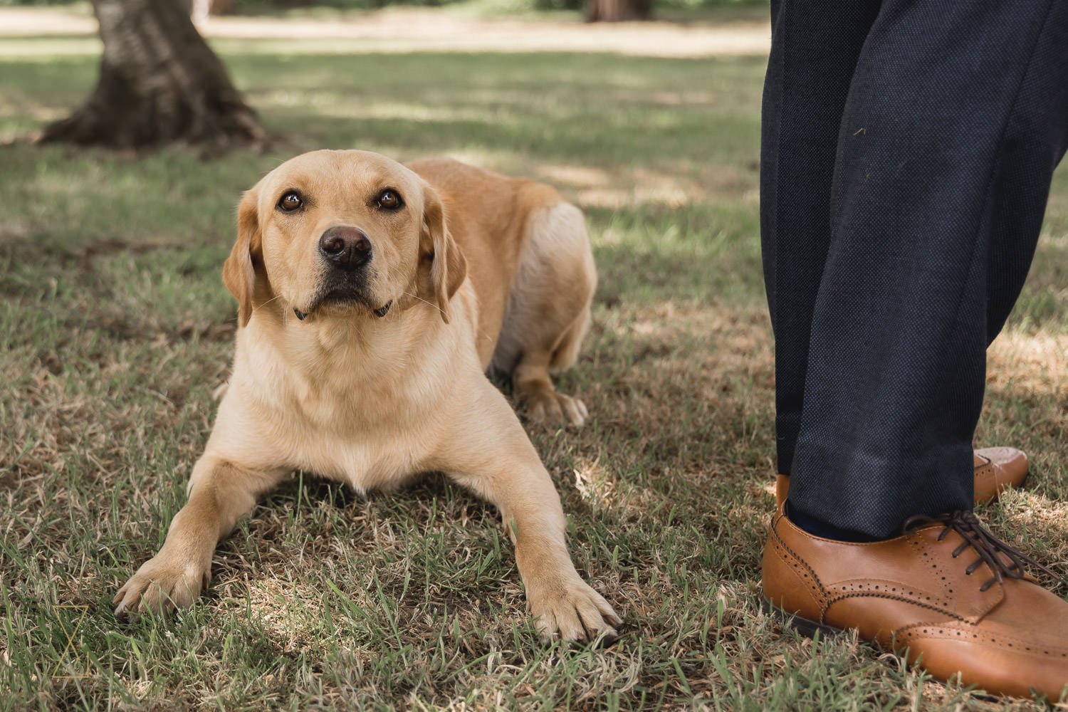
M 623 619 L 600 594 L 579 577 L 544 588 L 528 589 L 534 627 L 543 639 L 559 633 L 564 640 L 616 638 Z

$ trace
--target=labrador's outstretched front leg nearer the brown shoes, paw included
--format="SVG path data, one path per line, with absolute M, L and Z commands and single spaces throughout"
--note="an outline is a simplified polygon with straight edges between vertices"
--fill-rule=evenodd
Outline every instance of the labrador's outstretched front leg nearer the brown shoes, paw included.
M 500 510 L 538 632 L 614 637 L 623 620 L 575 570 L 560 495 L 507 401 L 487 381 L 477 407 L 455 425 L 440 469 Z

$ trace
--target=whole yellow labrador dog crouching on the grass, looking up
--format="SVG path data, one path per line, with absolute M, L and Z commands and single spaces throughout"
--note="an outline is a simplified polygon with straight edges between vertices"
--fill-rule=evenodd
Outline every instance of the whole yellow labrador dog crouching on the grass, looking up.
M 453 160 L 317 151 L 245 194 L 223 281 L 238 302 L 233 375 L 189 502 L 116 613 L 189 605 L 219 539 L 294 470 L 361 491 L 440 471 L 500 510 L 544 636 L 615 634 L 619 617 L 571 563 L 549 474 L 485 375 L 511 374 L 535 421 L 586 417 L 549 380 L 590 323 L 578 208 Z

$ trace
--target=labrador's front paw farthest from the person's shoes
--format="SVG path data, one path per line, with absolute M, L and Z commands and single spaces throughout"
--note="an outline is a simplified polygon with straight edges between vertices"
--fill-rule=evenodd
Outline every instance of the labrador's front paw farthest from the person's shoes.
M 160 552 L 141 565 L 111 603 L 115 615 L 163 614 L 190 605 L 211 580 L 211 561 L 192 561 Z

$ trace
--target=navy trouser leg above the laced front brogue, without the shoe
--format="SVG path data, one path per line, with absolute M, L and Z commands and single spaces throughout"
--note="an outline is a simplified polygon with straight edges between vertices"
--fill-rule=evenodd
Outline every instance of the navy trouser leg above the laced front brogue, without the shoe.
M 909 516 L 971 508 L 986 346 L 1068 138 L 1066 46 L 1068 5 L 1051 0 L 883 3 L 838 135 L 799 519 L 879 539 Z

